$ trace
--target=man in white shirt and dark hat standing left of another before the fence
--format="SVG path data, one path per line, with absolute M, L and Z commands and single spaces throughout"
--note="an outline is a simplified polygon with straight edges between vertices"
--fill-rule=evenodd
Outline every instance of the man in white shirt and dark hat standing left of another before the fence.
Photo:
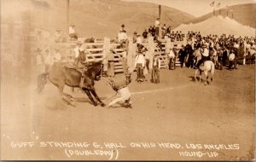
M 143 82 L 143 68 L 145 67 L 145 57 L 143 55 L 142 49 L 138 49 L 138 54 L 135 57 L 135 65 L 134 67 L 137 68 L 137 82 Z

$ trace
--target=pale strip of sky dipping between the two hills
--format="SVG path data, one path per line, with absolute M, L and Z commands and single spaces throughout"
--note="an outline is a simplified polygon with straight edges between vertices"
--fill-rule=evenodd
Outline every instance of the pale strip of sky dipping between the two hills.
M 215 2 L 215 9 L 226 8 L 236 4 L 256 3 L 256 0 L 123 0 L 128 2 L 157 3 L 174 9 L 179 9 L 195 17 L 212 12 L 214 7 L 210 3 Z M 220 6 L 217 8 L 217 4 Z

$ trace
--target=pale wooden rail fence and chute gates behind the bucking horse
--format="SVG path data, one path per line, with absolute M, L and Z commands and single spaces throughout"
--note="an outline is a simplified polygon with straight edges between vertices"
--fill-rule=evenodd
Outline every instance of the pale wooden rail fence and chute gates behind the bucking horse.
M 177 48 L 181 46 L 183 42 L 174 42 L 171 43 L 171 40 L 161 40 L 161 48 L 157 43 L 154 42 L 153 38 L 148 38 L 148 41 L 143 43 L 145 47 L 151 50 L 151 54 L 158 55 L 160 57 L 160 67 L 166 68 L 168 65 L 168 58 L 166 52 L 170 52 L 170 49 L 176 45 Z M 58 50 L 61 53 L 62 61 L 73 61 L 73 49 L 75 49 L 77 42 L 69 43 L 48 43 L 48 49 L 51 53 Z M 135 50 L 131 49 L 134 46 L 131 45 L 132 40 L 130 38 L 130 45 L 128 48 L 128 55 L 135 56 Z M 123 70 L 123 52 L 124 49 L 119 49 L 119 43 L 111 43 L 109 38 L 104 38 L 103 40 L 96 40 L 95 43 L 83 43 L 85 49 L 87 49 L 90 54 L 86 55 L 87 61 L 102 61 L 106 52 L 109 52 L 109 49 L 113 49 L 116 53 L 113 54 L 113 65 L 114 72 L 124 72 Z M 44 45 L 45 46 L 45 45 Z M 96 59 L 96 60 L 95 60 Z M 132 57 L 134 60 L 134 57 Z M 132 60 L 131 59 L 131 60 Z M 180 66 L 179 61 L 176 62 L 177 66 Z M 129 66 L 129 65 L 128 65 Z M 133 61 L 129 67 L 133 67 Z

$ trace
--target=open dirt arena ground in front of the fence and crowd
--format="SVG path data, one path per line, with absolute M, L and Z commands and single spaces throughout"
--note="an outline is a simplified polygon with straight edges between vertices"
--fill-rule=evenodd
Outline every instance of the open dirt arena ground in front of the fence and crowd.
M 188 68 L 160 70 L 160 84 L 137 84 L 133 73 L 132 109 L 94 107 L 79 90 L 66 87 L 78 100 L 76 107 L 67 106 L 50 83 L 36 95 L 35 87 L 2 78 L 1 159 L 253 159 L 254 70 L 247 65 L 216 71 L 211 86 L 195 84 L 194 70 Z M 104 102 L 114 94 L 103 81 L 96 82 L 96 92 Z M 50 147 L 46 142 L 90 146 Z M 116 145 L 109 148 L 109 143 Z M 112 155 L 82 155 L 83 150 Z

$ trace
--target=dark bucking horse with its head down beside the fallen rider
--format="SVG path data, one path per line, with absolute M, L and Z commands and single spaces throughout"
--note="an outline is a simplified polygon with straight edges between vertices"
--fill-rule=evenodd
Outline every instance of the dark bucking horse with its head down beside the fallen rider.
M 84 90 L 86 95 L 90 98 L 90 101 L 96 106 L 97 102 L 93 100 L 92 95 L 95 96 L 96 100 L 100 102 L 101 106 L 104 107 L 105 104 L 101 101 L 101 99 L 96 95 L 96 90 L 94 88 L 94 81 L 98 81 L 101 79 L 102 74 L 102 63 L 94 62 L 88 66 L 87 70 L 84 71 L 84 78 L 82 78 L 82 73 L 74 68 L 69 68 L 65 66 L 65 63 L 56 62 L 52 67 L 50 67 L 49 72 L 47 74 L 41 75 L 41 79 L 38 78 L 38 84 L 43 83 L 46 84 L 45 78 L 48 76 L 49 81 L 54 84 L 61 93 L 61 96 L 66 97 L 65 101 L 70 103 L 73 101 L 73 96 L 68 95 L 63 92 L 64 86 L 77 87 Z M 83 80 L 81 80 L 83 79 Z M 41 80 L 41 81 L 40 81 Z M 43 80 L 43 81 L 42 81 Z M 43 87 L 44 85 L 38 87 Z M 42 91 L 42 90 L 39 90 Z M 64 99 L 64 98 L 63 98 Z M 71 103 L 70 103 L 71 104 Z

